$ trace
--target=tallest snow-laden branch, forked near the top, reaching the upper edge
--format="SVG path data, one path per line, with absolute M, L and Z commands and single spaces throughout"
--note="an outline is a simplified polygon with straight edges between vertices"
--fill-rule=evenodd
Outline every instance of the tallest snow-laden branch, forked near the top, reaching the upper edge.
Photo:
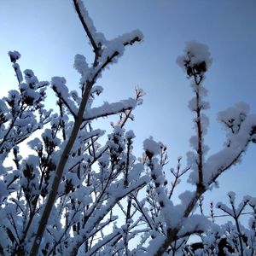
M 93 63 L 93 67 L 89 68 L 89 71 L 83 73 L 80 71 L 80 63 L 81 61 L 75 61 L 75 66 L 79 70 L 79 73 L 82 75 L 82 99 L 79 104 L 79 109 L 76 111 L 73 108 L 73 104 L 68 100 L 67 89 L 65 88 L 65 80 L 63 79 L 53 79 L 53 88 L 57 92 L 57 95 L 60 96 L 61 100 L 66 104 L 67 108 L 73 116 L 75 117 L 75 122 L 73 125 L 73 129 L 71 131 L 70 137 L 67 139 L 67 144 L 61 153 L 60 160 L 56 165 L 55 177 L 53 183 L 51 185 L 51 189 L 49 190 L 49 197 L 44 207 L 44 212 L 42 214 L 42 218 L 38 225 L 38 231 L 34 238 L 31 255 L 36 255 L 38 253 L 39 244 L 44 235 L 44 230 L 46 224 L 49 219 L 49 214 L 51 212 L 52 207 L 55 204 L 55 198 L 57 196 L 57 191 L 59 184 L 61 183 L 61 177 L 64 172 L 65 166 L 67 165 L 67 160 L 69 158 L 69 154 L 73 148 L 73 144 L 75 143 L 80 126 L 84 121 L 84 110 L 86 108 L 87 102 L 90 98 L 90 91 L 93 85 L 96 83 L 96 79 L 102 73 L 102 70 L 108 66 L 109 63 L 116 60 L 117 56 L 120 56 L 124 52 L 124 45 L 133 44 L 136 41 L 140 41 L 140 35 L 137 33 L 125 34 L 125 36 L 113 39 L 112 41 L 102 42 L 102 37 L 99 37 L 99 34 L 96 33 L 95 27 L 90 20 L 87 11 L 84 8 L 84 4 L 82 1 L 73 1 L 75 5 L 75 9 L 79 15 L 79 19 L 84 26 L 84 30 L 90 39 L 90 43 L 93 46 L 95 53 L 95 61 Z M 104 38 L 103 38 L 104 41 Z M 102 43 L 104 43 L 104 47 L 102 48 Z M 81 58 L 80 58 L 81 59 Z M 84 59 L 82 60 L 84 63 Z M 79 67 L 78 67 L 79 65 Z M 84 65 L 84 64 L 83 64 Z M 85 65 L 84 67 L 87 68 Z M 86 76 L 84 76 L 86 74 Z M 85 113 L 86 116 L 86 113 Z

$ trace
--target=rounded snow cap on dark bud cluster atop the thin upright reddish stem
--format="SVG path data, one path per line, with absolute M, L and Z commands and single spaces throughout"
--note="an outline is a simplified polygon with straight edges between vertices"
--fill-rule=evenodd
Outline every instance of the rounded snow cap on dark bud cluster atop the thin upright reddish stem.
M 212 64 L 211 54 L 206 44 L 189 41 L 186 43 L 184 53 L 177 57 L 177 65 L 182 67 L 189 77 L 207 72 Z

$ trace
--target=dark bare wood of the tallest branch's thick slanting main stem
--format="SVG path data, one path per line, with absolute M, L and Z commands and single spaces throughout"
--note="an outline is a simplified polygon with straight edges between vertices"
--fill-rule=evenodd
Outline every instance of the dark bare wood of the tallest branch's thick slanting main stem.
M 92 44 L 92 47 L 94 49 L 95 60 L 94 60 L 93 67 L 92 67 L 92 76 L 90 77 L 90 79 L 85 80 L 86 82 L 85 82 L 85 88 L 83 90 L 82 101 L 79 105 L 79 111 L 74 117 L 75 121 L 74 121 L 74 125 L 73 125 L 73 130 L 71 132 L 70 137 L 67 139 L 67 145 L 64 148 L 64 150 L 62 151 L 59 164 L 55 171 L 55 178 L 51 185 L 51 189 L 49 191 L 48 201 L 44 207 L 44 212 L 43 212 L 42 218 L 39 222 L 38 230 L 37 230 L 36 236 L 35 236 L 33 244 L 32 244 L 32 250 L 30 253 L 31 256 L 38 255 L 38 249 L 40 247 L 40 243 L 41 243 L 42 237 L 44 235 L 44 230 L 48 223 L 49 214 L 52 210 L 52 207 L 55 204 L 55 199 L 56 199 L 56 195 L 58 192 L 59 184 L 61 183 L 62 174 L 63 174 L 65 166 L 67 164 L 67 160 L 68 160 L 70 151 L 73 148 L 73 144 L 76 141 L 77 135 L 79 133 L 79 129 L 84 121 L 84 119 L 83 119 L 84 109 L 85 109 L 88 99 L 90 97 L 90 90 L 92 89 L 92 86 L 96 83 L 96 79 L 98 78 L 100 73 L 102 73 L 102 70 L 105 67 L 107 67 L 108 64 L 111 63 L 115 57 L 117 57 L 121 54 L 118 50 L 113 50 L 113 52 L 111 54 L 108 53 L 109 55 L 105 59 L 105 61 L 103 61 L 101 64 L 99 64 L 98 59 L 99 59 L 100 55 L 102 54 L 102 44 L 101 43 L 96 44 L 96 39 L 93 36 L 94 27 L 91 28 L 90 26 L 87 26 L 86 21 L 90 22 L 91 20 L 88 17 L 86 10 L 84 9 L 83 3 L 79 0 L 73 0 L 73 3 L 75 6 L 75 9 L 79 15 L 79 19 L 84 26 L 84 30 L 87 34 L 87 37 L 90 39 L 90 43 Z M 87 18 L 87 20 L 85 18 Z M 90 28 L 91 28 L 92 32 L 90 31 Z M 138 36 L 135 36 L 134 38 L 129 38 L 127 41 L 123 42 L 123 44 L 125 46 L 125 45 L 129 45 L 129 44 L 133 44 L 136 41 L 140 41 L 140 40 L 141 40 L 141 38 L 139 38 Z

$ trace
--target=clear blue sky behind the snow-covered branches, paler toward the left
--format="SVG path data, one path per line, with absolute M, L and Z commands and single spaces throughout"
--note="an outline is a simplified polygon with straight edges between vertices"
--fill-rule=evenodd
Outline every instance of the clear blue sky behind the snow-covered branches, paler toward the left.
M 70 89 L 79 87 L 73 70 L 77 53 L 91 61 L 91 49 L 71 0 L 0 0 L 0 95 L 16 86 L 7 52 L 18 50 L 21 69 L 32 68 L 39 79 L 64 76 Z M 170 165 L 189 150 L 192 97 L 189 80 L 176 64 L 184 44 L 207 44 L 212 67 L 205 86 L 210 129 L 209 154 L 224 143 L 224 131 L 216 121 L 218 111 L 243 101 L 256 113 L 256 2 L 255 0 L 88 0 L 85 1 L 98 32 L 114 38 L 139 28 L 142 44 L 127 48 L 117 65 L 103 73 L 104 93 L 96 102 L 119 101 L 133 95 L 136 84 L 145 90 L 143 106 L 129 125 L 137 135 L 135 152 L 142 153 L 143 139 L 152 135 L 169 148 Z M 54 97 L 49 94 L 54 106 Z M 103 119 L 102 127 L 109 127 Z M 167 170 L 166 170 L 167 172 Z M 220 189 L 208 193 L 208 201 L 225 201 L 225 194 L 256 196 L 256 147 L 251 145 L 240 165 L 219 179 Z M 180 189 L 187 189 L 185 185 Z

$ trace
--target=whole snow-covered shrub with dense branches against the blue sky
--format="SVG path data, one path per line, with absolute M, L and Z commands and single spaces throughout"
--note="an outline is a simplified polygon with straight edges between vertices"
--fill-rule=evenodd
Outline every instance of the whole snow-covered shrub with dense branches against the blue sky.
M 97 79 L 106 67 L 118 61 L 126 46 L 142 40 L 142 33 L 134 31 L 108 41 L 96 32 L 83 2 L 73 0 L 73 4 L 90 40 L 94 62 L 89 66 L 84 55 L 75 56 L 74 67 L 81 75 L 79 92 L 69 91 L 64 78 L 52 78 L 58 113 L 44 106 L 49 83 L 39 82 L 32 70 L 25 70 L 23 77 L 17 63 L 20 53 L 9 52 L 19 88 L 10 90 L 9 96 L 0 101 L 3 234 L 0 252 L 3 255 L 191 254 L 189 236 L 201 234 L 202 241 L 207 241 L 207 229 L 212 226 L 216 228 L 211 233 L 212 243 L 205 242 L 206 246 L 195 253 L 209 253 L 214 243 L 226 238 L 234 252 L 253 255 L 255 199 L 246 197 L 236 209 L 234 195 L 230 194 L 232 211 L 218 204 L 235 219 L 235 226 L 229 224 L 222 233 L 206 216 L 195 213 L 201 196 L 212 188 L 218 176 L 241 160 L 249 143 L 256 142 L 256 116 L 248 113 L 245 103 L 239 103 L 219 113 L 219 120 L 227 128 L 227 142 L 220 152 L 207 158 L 204 144 L 207 117 L 203 111 L 208 103 L 204 101 L 207 90 L 203 81 L 212 62 L 207 46 L 189 42 L 184 55 L 177 59 L 192 79 L 195 96 L 189 108 L 195 113 L 196 134 L 190 140 L 194 151 L 188 154 L 188 166 L 181 169 L 180 158 L 177 170 L 171 169 L 174 180 L 170 187 L 169 177 L 163 171 L 166 146 L 149 137 L 143 144 L 143 158 L 136 158 L 132 154 L 135 135 L 124 129 L 125 123 L 132 119 L 132 110 L 142 103 L 143 90 L 137 88 L 135 98 L 105 102 L 97 108 L 92 105 L 102 93 L 102 87 L 96 85 Z M 98 142 L 104 131 L 94 128 L 95 120 L 109 115 L 119 115 L 119 120 L 101 146 Z M 33 138 L 38 130 L 42 130 L 41 138 Z M 34 150 L 34 154 L 26 157 L 20 154 L 25 142 Z M 13 155 L 15 166 L 8 168 L 3 162 L 9 155 Z M 195 190 L 184 191 L 179 196 L 182 203 L 174 205 L 172 195 L 180 178 L 188 172 L 189 183 Z M 146 199 L 142 200 L 140 194 L 146 195 Z M 250 230 L 245 231 L 239 216 L 247 205 L 253 208 L 254 215 Z M 116 223 L 118 207 L 124 216 L 121 226 Z M 133 249 L 131 241 L 140 235 L 141 241 Z

